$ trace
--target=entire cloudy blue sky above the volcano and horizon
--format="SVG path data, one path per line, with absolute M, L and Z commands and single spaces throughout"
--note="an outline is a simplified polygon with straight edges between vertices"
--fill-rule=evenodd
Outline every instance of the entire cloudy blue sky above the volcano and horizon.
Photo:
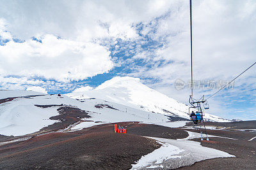
M 49 94 L 141 78 L 183 103 L 190 90 L 188 1 L 1 1 L 0 87 Z M 196 81 L 229 81 L 255 62 L 256 3 L 195 1 Z M 211 113 L 256 119 L 255 68 L 209 101 Z M 195 89 L 195 97 L 218 89 Z

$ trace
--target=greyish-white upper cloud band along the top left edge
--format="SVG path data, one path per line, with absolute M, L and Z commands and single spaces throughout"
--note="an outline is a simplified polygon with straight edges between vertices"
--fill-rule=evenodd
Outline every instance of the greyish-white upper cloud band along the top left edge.
M 163 15 L 174 2 L 1 1 L 0 16 L 8 21 L 8 31 L 21 39 L 29 39 L 38 34 L 54 34 L 76 41 L 90 41 L 92 38 L 109 36 L 131 38 L 136 36 L 132 24 L 148 22 Z

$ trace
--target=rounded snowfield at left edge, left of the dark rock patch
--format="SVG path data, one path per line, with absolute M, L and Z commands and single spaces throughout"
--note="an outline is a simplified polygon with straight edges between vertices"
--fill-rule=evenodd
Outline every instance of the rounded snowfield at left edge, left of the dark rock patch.
M 56 108 L 42 110 L 31 103 L 31 99 L 18 98 L 0 105 L 0 134 L 20 136 L 39 131 L 53 124 L 49 117 L 58 115 Z

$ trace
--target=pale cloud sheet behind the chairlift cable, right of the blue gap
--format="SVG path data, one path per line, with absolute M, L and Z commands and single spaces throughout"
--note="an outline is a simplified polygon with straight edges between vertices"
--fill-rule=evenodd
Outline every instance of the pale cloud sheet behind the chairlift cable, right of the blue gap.
M 256 6 L 255 1 L 193 1 L 194 80 L 232 80 L 255 62 L 256 8 L 253 6 Z M 153 29 L 156 29 L 156 33 Z M 178 78 L 186 82 L 190 80 L 189 2 L 179 1 L 171 6 L 170 15 L 160 18 L 155 25 L 143 28 L 142 32 L 160 43 L 162 38 L 167 42 L 163 43 L 162 48 L 150 53 L 138 53 L 136 57 L 151 59 L 155 63 L 163 60 L 163 65 L 136 66 L 129 75 L 160 80 L 148 85 L 183 103 L 188 103 L 191 90 L 177 91 L 173 84 Z M 241 84 L 246 84 L 246 88 Z M 232 111 L 237 104 L 230 103 L 230 99 L 255 96 L 255 91 L 250 91 L 256 86 L 255 67 L 244 73 L 235 85 L 236 90 L 224 90 L 218 96 L 212 97 L 212 113 L 221 117 L 236 117 L 236 114 L 232 115 Z M 211 95 L 214 92 L 216 89 L 194 90 L 195 97 Z M 232 96 L 225 99 L 231 92 Z M 227 104 L 231 104 L 233 109 L 228 108 Z M 252 108 L 248 108 L 246 104 L 248 103 L 244 103 L 244 113 L 249 113 Z M 250 118 L 252 117 L 255 119 L 255 114 Z

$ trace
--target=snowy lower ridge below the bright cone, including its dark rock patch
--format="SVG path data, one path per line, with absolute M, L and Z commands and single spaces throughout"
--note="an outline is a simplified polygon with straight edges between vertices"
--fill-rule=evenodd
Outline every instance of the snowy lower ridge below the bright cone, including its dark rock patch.
M 0 97 L 2 92 L 0 91 Z M 8 92 L 12 96 L 15 90 L 6 90 L 4 93 L 7 95 Z M 17 95 L 20 94 L 20 91 L 16 92 Z M 66 131 L 65 129 L 76 131 L 114 122 L 143 122 L 168 127 L 186 124 L 186 121 L 170 122 L 168 117 L 160 113 L 136 110 L 101 99 L 76 100 L 58 94 L 0 99 L 0 137 Z

